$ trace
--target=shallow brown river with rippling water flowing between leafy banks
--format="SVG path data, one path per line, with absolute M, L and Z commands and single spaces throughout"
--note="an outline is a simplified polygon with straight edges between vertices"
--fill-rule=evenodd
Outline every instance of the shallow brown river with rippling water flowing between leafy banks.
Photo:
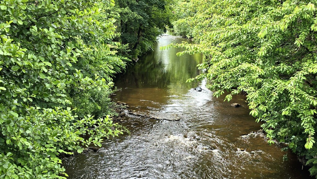
M 178 114 L 179 121 L 127 116 L 131 134 L 106 141 L 98 152 L 63 159 L 69 179 L 307 179 L 294 155 L 283 162 L 281 147 L 269 146 L 260 124 L 249 116 L 244 96 L 228 102 L 214 98 L 199 74 L 200 55 L 177 57 L 181 49 L 160 51 L 188 41 L 165 34 L 153 52 L 116 80 L 115 100 L 146 114 Z M 193 88 L 201 86 L 202 92 Z M 240 103 L 242 107 L 231 107 Z M 137 124 L 137 123 L 138 124 Z M 242 137 L 241 137 L 242 136 Z M 243 148 L 245 151 L 239 151 Z

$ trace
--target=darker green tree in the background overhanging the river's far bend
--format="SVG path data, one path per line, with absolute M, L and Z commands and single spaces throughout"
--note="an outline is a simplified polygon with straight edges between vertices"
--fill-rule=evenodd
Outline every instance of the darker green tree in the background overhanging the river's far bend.
M 172 16 L 173 0 L 116 0 L 107 12 L 118 19 L 122 54 L 136 58 L 152 50 L 156 38 L 166 31 Z

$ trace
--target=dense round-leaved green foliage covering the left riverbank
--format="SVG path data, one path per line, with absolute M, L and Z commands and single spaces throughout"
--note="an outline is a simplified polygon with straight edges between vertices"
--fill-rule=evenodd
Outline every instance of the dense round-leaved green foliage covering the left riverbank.
M 58 155 L 122 133 L 108 94 L 128 59 L 105 6 L 0 0 L 0 178 L 64 178 Z

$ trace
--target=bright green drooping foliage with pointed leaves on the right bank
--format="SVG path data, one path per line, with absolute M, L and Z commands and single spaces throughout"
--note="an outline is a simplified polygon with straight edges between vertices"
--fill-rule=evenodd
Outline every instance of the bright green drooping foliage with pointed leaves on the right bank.
M 250 114 L 269 137 L 287 142 L 317 174 L 317 1 L 186 0 L 176 6 L 176 33 L 197 44 L 172 44 L 202 53 L 214 96 L 247 93 Z

